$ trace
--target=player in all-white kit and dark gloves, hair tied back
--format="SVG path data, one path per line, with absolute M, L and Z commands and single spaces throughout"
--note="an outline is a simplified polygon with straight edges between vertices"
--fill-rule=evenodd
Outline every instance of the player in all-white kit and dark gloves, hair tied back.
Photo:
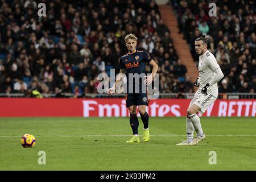
M 216 101 L 218 97 L 217 82 L 224 77 L 214 55 L 207 49 L 208 38 L 209 36 L 203 35 L 195 41 L 196 53 L 200 56 L 198 66 L 199 78 L 196 79 L 194 86 L 199 87 L 199 89 L 195 93 L 187 110 L 187 140 L 178 143 L 177 145 L 179 146 L 195 146 L 205 138 L 197 112 L 203 114 L 209 105 Z M 196 137 L 193 138 L 195 130 Z

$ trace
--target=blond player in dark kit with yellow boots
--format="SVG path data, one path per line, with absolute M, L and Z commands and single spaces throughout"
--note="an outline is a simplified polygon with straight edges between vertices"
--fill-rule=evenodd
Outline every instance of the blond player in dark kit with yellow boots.
M 123 55 L 119 60 L 120 73 L 125 73 L 127 77 L 127 93 L 126 93 L 126 107 L 128 107 L 130 112 L 130 125 L 133 130 L 133 138 L 128 140 L 126 143 L 139 142 L 138 127 L 139 121 L 137 118 L 137 106 L 139 114 L 141 114 L 141 119 L 144 125 L 143 140 L 147 142 L 150 139 L 150 133 L 148 129 L 148 114 L 146 112 L 146 106 L 148 105 L 148 94 L 147 91 L 143 92 L 146 85 L 150 85 L 152 80 L 154 80 L 155 74 L 158 71 L 158 65 L 154 60 L 151 59 L 145 51 L 137 51 L 137 40 L 138 38 L 134 34 L 129 34 L 125 36 L 125 45 L 128 49 L 128 53 Z M 150 76 L 144 77 L 143 83 L 141 81 L 134 82 L 129 79 L 129 75 L 140 75 L 145 74 L 146 62 L 152 65 L 152 73 Z M 122 74 L 121 74 L 122 75 Z M 115 92 L 115 86 L 119 81 L 122 81 L 122 77 L 119 76 L 115 81 L 115 84 L 108 90 L 109 94 Z M 131 81 L 133 82 L 131 84 Z M 130 85 L 129 85 L 130 82 Z M 144 85 L 143 85 L 144 84 Z M 136 92 L 136 87 L 138 92 Z M 129 89 L 133 88 L 133 90 Z

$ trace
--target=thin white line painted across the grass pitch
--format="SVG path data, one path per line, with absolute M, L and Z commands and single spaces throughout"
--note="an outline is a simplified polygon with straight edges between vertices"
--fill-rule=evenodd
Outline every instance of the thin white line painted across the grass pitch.
M 142 135 L 139 135 L 142 137 Z M 150 137 L 186 137 L 187 135 L 150 135 Z M 35 137 L 131 137 L 131 135 L 59 135 Z M 207 135 L 207 137 L 256 137 L 256 135 Z M 0 136 L 0 138 L 20 138 L 20 136 Z

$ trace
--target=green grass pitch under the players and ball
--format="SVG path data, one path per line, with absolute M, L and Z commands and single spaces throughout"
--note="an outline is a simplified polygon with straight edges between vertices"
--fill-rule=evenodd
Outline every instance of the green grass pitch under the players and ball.
M 255 118 L 201 118 L 207 135 L 185 139 L 185 118 L 150 118 L 149 142 L 130 139 L 128 118 L 0 118 L 0 170 L 256 170 Z M 143 123 L 139 118 L 139 135 Z M 23 148 L 20 137 L 35 135 Z M 46 152 L 46 165 L 38 152 Z M 217 164 L 209 164 L 209 152 Z

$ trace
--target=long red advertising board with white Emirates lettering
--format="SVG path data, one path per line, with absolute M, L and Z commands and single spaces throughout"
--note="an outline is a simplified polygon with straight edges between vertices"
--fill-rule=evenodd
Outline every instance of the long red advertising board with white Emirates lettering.
M 151 117 L 185 116 L 190 100 L 151 100 Z M 216 100 L 204 116 L 255 117 L 256 100 Z M 0 117 L 126 117 L 122 98 L 0 98 Z

